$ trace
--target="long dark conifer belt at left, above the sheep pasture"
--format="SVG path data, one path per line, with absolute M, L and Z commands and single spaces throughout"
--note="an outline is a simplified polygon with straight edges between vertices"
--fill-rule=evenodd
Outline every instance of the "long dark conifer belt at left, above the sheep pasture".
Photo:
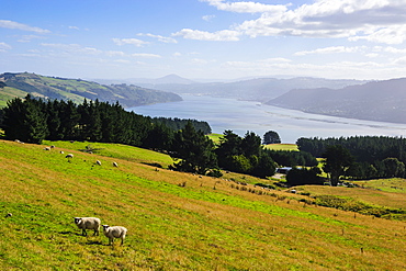
M 165 121 L 165 122 L 163 122 Z M 162 148 L 171 133 L 191 122 L 211 133 L 206 122 L 180 118 L 151 118 L 128 112 L 119 102 L 84 100 L 82 104 L 63 100 L 15 98 L 0 111 L 0 126 L 10 139 L 41 144 L 49 140 L 90 140 Z

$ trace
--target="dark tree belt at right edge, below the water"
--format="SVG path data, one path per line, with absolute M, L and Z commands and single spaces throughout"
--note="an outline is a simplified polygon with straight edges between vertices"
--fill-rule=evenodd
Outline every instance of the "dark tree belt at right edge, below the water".
M 300 138 L 300 150 L 326 158 L 325 171 L 351 179 L 405 177 L 406 139 L 388 136 Z M 334 177 L 334 178 L 332 178 Z

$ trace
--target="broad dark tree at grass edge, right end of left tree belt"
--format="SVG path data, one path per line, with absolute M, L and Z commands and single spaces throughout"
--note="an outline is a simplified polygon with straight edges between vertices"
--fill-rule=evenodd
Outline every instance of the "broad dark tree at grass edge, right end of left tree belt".
M 172 166 L 179 171 L 206 174 L 217 168 L 214 143 L 202 131 L 195 131 L 191 122 L 174 134 L 170 156 L 176 161 L 180 159 Z

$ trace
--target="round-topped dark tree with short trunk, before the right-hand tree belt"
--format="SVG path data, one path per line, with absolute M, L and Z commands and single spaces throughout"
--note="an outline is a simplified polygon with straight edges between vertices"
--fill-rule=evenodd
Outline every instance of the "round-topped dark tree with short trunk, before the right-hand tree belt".
M 353 157 L 341 145 L 327 146 L 322 157 L 325 158 L 323 170 L 329 173 L 331 185 L 337 187 L 340 176 L 346 174 L 352 165 Z

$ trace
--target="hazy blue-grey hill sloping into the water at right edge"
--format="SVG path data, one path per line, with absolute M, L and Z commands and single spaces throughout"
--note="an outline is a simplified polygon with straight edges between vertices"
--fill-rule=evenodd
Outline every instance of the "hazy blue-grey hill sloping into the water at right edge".
M 267 104 L 316 114 L 406 123 L 406 78 L 368 82 L 339 90 L 296 89 Z

